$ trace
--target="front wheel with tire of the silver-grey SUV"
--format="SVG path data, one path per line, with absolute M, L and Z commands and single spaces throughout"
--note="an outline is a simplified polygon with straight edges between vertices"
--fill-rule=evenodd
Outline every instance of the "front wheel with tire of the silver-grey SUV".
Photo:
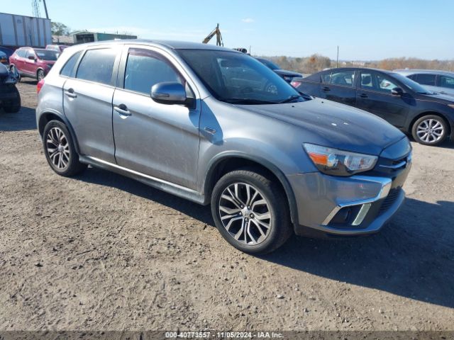
M 269 253 L 292 234 L 284 191 L 252 168 L 219 179 L 211 195 L 211 214 L 222 237 L 249 254 Z

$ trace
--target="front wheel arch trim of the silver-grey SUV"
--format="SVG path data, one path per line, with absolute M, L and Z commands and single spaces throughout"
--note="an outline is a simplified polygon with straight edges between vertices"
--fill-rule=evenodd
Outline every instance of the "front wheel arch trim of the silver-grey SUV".
M 290 218 L 292 223 L 298 222 L 298 211 L 297 211 L 297 202 L 294 196 L 292 187 L 287 181 L 287 178 L 284 176 L 282 171 L 279 170 L 275 164 L 263 159 L 261 157 L 255 157 L 250 154 L 243 154 L 240 152 L 225 152 L 219 154 L 217 157 L 211 160 L 209 163 L 209 169 L 206 171 L 205 181 L 204 181 L 204 196 L 205 203 L 208 204 L 211 200 L 211 193 L 218 179 L 223 175 L 227 174 L 230 171 L 243 168 L 245 166 L 253 166 L 262 171 L 265 171 L 266 174 L 271 175 L 274 179 L 277 180 L 277 183 L 284 190 L 285 196 L 287 197 L 287 203 L 290 210 Z

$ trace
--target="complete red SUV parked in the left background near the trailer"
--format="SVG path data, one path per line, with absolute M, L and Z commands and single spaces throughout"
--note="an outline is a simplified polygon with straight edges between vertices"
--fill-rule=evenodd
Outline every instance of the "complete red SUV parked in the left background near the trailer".
M 17 69 L 21 77 L 34 78 L 38 81 L 48 74 L 57 60 L 59 53 L 43 48 L 21 47 L 9 57 L 11 71 Z

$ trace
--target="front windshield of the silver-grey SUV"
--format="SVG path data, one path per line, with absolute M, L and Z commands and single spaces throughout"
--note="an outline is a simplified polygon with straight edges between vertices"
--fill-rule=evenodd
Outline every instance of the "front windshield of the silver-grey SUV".
M 243 53 L 179 50 L 179 55 L 219 101 L 276 104 L 307 99 L 271 69 Z

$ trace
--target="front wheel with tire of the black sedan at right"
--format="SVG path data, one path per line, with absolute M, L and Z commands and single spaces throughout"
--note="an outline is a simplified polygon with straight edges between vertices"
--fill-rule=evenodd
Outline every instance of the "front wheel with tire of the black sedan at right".
M 448 135 L 448 124 L 438 115 L 424 115 L 411 128 L 414 140 L 422 145 L 440 145 Z

